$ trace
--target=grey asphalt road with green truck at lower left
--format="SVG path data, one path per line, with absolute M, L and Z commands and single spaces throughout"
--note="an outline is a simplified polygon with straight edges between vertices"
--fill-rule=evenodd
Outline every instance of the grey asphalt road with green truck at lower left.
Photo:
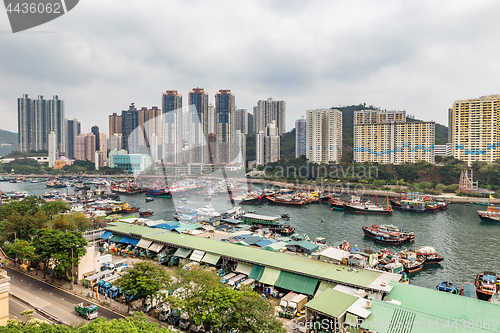
M 19 273 L 11 268 L 7 268 L 6 270 L 10 277 L 11 294 L 36 308 L 40 308 L 50 313 L 66 324 L 88 322 L 88 320 L 78 316 L 74 310 L 74 304 L 82 302 L 82 298 L 48 285 L 28 275 Z M 9 304 L 12 304 L 12 302 Z M 19 304 L 14 306 L 16 311 L 18 311 L 19 309 L 17 307 Z M 10 313 L 17 316 L 15 312 L 10 311 Z M 107 319 L 123 318 L 122 315 L 102 307 L 99 307 L 99 317 Z

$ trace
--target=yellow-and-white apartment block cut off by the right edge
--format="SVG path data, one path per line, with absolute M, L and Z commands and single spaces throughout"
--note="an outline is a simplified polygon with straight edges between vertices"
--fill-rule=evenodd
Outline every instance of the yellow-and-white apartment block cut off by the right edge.
M 458 100 L 449 110 L 452 155 L 471 165 L 500 157 L 500 95 Z

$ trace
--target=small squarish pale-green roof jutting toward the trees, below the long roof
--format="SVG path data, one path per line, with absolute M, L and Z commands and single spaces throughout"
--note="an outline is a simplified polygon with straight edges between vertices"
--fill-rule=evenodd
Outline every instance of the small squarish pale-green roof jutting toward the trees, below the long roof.
M 327 289 L 308 303 L 306 307 L 340 318 L 345 311 L 358 300 L 358 297 L 334 289 Z M 378 331 L 377 331 L 378 332 Z

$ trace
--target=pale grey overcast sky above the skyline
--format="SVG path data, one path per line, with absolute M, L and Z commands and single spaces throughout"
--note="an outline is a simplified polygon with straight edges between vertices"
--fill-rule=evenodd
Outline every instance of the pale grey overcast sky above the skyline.
M 0 128 L 17 98 L 59 95 L 82 132 L 131 102 L 230 89 L 249 111 L 366 103 L 447 125 L 453 101 L 500 93 L 499 1 L 81 0 L 12 34 L 0 9 Z

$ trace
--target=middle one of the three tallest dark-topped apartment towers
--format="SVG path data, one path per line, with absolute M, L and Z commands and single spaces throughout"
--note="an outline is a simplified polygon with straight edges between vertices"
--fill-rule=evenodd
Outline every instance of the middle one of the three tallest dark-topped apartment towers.
M 208 163 L 207 136 L 209 134 L 208 93 L 201 88 L 189 92 L 189 161 Z

